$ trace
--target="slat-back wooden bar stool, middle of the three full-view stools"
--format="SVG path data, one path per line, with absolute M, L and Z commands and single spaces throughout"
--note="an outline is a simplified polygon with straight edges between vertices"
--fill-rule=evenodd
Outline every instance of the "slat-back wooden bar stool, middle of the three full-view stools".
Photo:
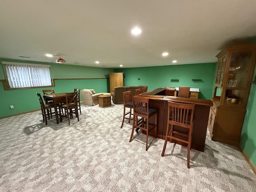
M 147 98 L 132 97 L 133 100 L 133 124 L 132 134 L 129 142 L 132 141 L 133 133 L 135 128 L 142 129 L 146 132 L 146 151 L 148 150 L 148 133 L 150 130 L 155 129 L 155 138 L 157 138 L 157 115 L 158 110 L 155 108 L 148 107 Z M 149 123 L 149 118 L 154 116 L 154 124 Z M 138 121 L 138 117 L 141 117 L 141 122 Z

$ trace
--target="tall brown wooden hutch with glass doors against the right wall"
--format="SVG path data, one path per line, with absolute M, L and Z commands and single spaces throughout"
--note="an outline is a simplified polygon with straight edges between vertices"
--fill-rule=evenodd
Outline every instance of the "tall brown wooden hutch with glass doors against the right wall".
M 216 57 L 218 66 L 208 128 L 212 140 L 238 146 L 256 61 L 256 44 L 229 46 Z

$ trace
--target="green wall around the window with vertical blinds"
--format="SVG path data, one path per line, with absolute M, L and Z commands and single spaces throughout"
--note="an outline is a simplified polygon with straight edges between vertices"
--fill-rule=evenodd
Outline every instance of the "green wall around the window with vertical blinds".
M 103 78 L 103 79 L 88 79 L 88 80 L 56 80 L 55 87 L 46 88 L 29 88 L 4 90 L 2 82 L 0 82 L 0 118 L 40 109 L 40 104 L 36 92 L 41 95 L 43 89 L 54 88 L 55 92 L 73 92 L 74 88 L 94 89 L 98 92 L 109 92 L 109 73 L 114 72 L 113 69 L 96 68 L 85 66 L 74 66 L 56 63 L 33 62 L 24 60 L 10 60 L 0 58 L 2 61 L 33 63 L 33 64 L 48 64 L 50 65 L 51 78 Z M 4 79 L 3 67 L 0 66 L 0 79 Z M 14 109 L 10 109 L 13 105 Z

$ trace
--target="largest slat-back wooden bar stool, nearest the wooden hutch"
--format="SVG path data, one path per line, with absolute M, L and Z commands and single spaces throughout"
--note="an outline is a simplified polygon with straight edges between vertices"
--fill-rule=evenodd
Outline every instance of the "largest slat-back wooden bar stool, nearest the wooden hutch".
M 190 148 L 193 132 L 193 117 L 195 104 L 183 104 L 168 101 L 168 122 L 162 157 L 166 149 L 167 141 L 172 139 L 186 143 L 188 148 L 187 167 L 190 168 Z M 170 126 L 171 125 L 171 126 Z M 174 126 L 184 127 L 185 131 L 178 131 Z

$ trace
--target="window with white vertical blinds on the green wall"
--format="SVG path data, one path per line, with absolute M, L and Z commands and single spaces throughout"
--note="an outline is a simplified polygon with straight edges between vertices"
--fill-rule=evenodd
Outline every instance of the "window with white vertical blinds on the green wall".
M 51 86 L 50 65 L 2 62 L 10 88 Z

